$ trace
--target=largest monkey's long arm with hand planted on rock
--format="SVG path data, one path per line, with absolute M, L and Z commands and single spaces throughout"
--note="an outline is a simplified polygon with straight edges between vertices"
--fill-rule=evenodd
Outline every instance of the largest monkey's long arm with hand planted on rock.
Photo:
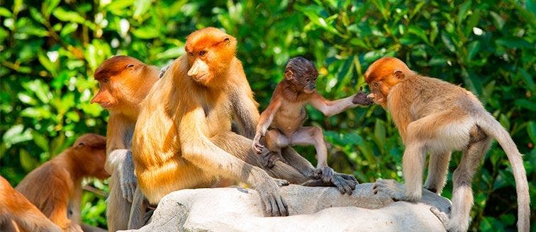
M 223 177 L 233 177 L 251 184 L 260 195 L 267 214 L 272 216 L 288 215 L 286 204 L 279 195 L 276 182 L 259 167 L 247 164 L 219 148 L 203 134 L 205 113 L 201 107 L 189 109 L 179 123 L 179 141 L 182 158 L 207 172 L 219 172 Z

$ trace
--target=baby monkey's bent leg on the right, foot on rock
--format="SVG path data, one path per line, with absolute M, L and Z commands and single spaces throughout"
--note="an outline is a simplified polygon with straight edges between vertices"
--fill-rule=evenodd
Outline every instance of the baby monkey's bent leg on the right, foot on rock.
M 315 175 L 324 182 L 330 182 L 333 169 L 328 167 L 328 148 L 326 148 L 322 129 L 316 126 L 302 126 L 290 138 L 291 144 L 314 145 L 318 155 Z

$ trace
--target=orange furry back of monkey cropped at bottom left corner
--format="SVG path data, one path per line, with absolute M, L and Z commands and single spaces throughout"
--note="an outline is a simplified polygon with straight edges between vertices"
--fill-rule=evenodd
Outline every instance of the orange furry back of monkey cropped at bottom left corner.
M 0 231 L 55 231 L 62 229 L 0 176 Z

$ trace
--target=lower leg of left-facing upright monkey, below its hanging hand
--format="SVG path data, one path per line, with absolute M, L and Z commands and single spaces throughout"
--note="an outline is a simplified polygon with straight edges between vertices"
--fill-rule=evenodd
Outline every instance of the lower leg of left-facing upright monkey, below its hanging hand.
M 110 195 L 108 196 L 108 206 L 106 206 L 106 221 L 108 231 L 126 230 L 130 214 L 130 202 L 123 198 L 121 192 L 119 172 L 116 170 L 111 174 L 109 180 Z

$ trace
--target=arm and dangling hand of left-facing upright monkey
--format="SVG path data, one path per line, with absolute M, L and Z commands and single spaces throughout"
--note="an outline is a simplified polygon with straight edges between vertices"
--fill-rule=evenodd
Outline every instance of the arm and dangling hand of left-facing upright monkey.
M 133 126 L 125 123 L 126 118 L 112 114 L 108 120 L 106 131 L 106 164 L 104 169 L 108 173 L 118 170 L 119 182 L 123 198 L 132 202 L 136 188 L 136 177 L 130 143 L 132 141 Z

